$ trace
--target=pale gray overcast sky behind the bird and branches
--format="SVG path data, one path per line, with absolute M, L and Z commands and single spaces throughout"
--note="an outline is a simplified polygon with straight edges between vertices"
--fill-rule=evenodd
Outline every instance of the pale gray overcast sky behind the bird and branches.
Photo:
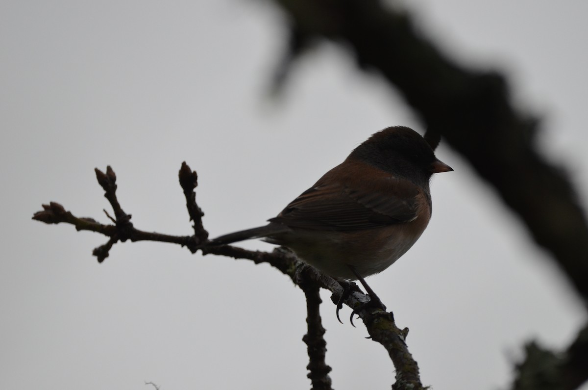
M 411 9 L 447 52 L 507 73 L 588 206 L 588 4 Z M 106 222 L 93 168 L 110 164 L 136 227 L 189 234 L 185 160 L 216 236 L 275 216 L 375 131 L 422 133 L 385 82 L 334 45 L 303 58 L 271 101 L 283 25 L 266 2 L 0 3 L 1 388 L 309 387 L 303 293 L 277 270 L 158 243 L 117 244 L 98 265 L 91 251 L 103 237 L 30 219 L 54 200 Z M 426 385 L 504 387 L 523 341 L 563 347 L 586 316 L 493 190 L 446 146 L 437 156 L 455 172 L 433 179 L 432 222 L 369 282 L 410 328 Z M 323 298 L 334 386 L 389 388 L 385 350 L 362 326 L 340 325 Z

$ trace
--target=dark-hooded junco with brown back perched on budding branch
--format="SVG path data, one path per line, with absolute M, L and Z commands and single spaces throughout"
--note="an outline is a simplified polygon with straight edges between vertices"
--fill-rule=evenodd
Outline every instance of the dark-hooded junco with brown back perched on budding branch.
M 452 171 L 416 131 L 388 127 L 356 147 L 265 226 L 209 244 L 263 237 L 339 280 L 382 272 L 412 247 L 431 217 L 429 179 Z M 361 279 L 360 279 L 361 280 Z

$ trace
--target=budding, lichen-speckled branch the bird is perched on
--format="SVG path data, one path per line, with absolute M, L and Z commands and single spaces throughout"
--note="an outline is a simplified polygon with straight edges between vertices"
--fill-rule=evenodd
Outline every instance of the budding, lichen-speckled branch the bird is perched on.
M 106 174 L 96 169 L 96 178 L 105 190 L 105 197 L 111 203 L 115 211 L 115 224 L 101 224 L 91 218 L 80 218 L 74 216 L 71 211 L 66 211 L 59 203 L 51 202 L 44 204 L 42 211 L 34 214 L 33 219 L 48 224 L 67 223 L 75 226 L 76 230 L 88 230 L 90 232 L 101 233 L 109 237 L 108 242 L 93 250 L 93 255 L 98 257 L 102 262 L 108 257 L 109 250 L 113 244 L 118 241 L 131 240 L 135 241 L 156 241 L 180 244 L 187 247 L 192 253 L 198 249 L 202 250 L 203 255 L 213 254 L 233 257 L 235 259 L 249 259 L 254 263 L 269 263 L 280 272 L 288 275 L 292 281 L 300 286 L 305 292 L 308 305 L 308 334 L 305 336 L 305 342 L 309 349 L 310 370 L 309 378 L 316 389 L 328 389 L 330 387 L 330 378 L 328 372 L 330 368 L 325 363 L 325 341 L 322 335 L 325 330 L 320 323 L 320 314 L 318 312 L 320 296 L 318 289 L 320 287 L 330 290 L 333 293 L 332 299 L 338 302 L 339 297 L 343 294 L 343 288 L 332 277 L 323 275 L 315 268 L 298 260 L 290 250 L 284 247 L 278 247 L 273 252 L 259 252 L 245 250 L 239 247 L 223 246 L 206 246 L 205 238 L 208 233 L 202 227 L 201 217 L 202 210 L 196 204 L 194 189 L 197 184 L 197 175 L 186 163 L 182 163 L 179 173 L 179 180 L 186 195 L 188 213 L 194 223 L 195 234 L 193 236 L 171 236 L 162 233 L 148 233 L 136 229 L 131 223 L 131 215 L 122 210 L 121 205 L 116 199 L 116 175 L 111 167 L 108 167 Z M 369 297 L 360 291 L 353 291 L 343 301 L 350 308 L 356 308 L 362 303 L 369 300 Z M 362 309 L 358 312 L 359 317 L 363 320 L 372 339 L 382 344 L 388 351 L 390 358 L 396 368 L 396 387 L 411 388 L 415 390 L 422 389 L 419 379 L 419 370 L 417 363 L 412 359 L 412 355 L 407 349 L 404 339 L 407 329 L 400 330 L 396 327 L 392 313 L 383 312 L 380 309 Z M 322 346 L 321 346 L 322 345 Z M 409 387 L 399 387 L 402 386 Z

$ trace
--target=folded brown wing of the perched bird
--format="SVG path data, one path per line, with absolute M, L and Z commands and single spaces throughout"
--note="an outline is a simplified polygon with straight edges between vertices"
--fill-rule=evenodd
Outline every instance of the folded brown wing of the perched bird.
M 373 229 L 416 219 L 422 204 L 422 190 L 389 174 L 370 174 L 370 180 L 348 176 L 335 183 L 326 176 L 269 221 L 303 229 Z

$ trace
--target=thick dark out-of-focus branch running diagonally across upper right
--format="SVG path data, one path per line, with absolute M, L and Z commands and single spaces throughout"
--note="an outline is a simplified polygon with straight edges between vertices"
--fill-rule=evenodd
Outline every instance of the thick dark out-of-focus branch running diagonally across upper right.
M 495 187 L 588 305 L 584 211 L 564 171 L 537 151 L 537 120 L 513 107 L 502 75 L 457 64 L 407 12 L 378 0 L 273 2 L 288 16 L 292 34 L 341 42 L 360 67 L 376 70 L 402 94 L 427 133 L 443 135 Z M 290 52 L 293 61 L 299 45 Z

